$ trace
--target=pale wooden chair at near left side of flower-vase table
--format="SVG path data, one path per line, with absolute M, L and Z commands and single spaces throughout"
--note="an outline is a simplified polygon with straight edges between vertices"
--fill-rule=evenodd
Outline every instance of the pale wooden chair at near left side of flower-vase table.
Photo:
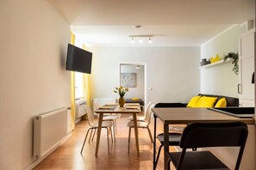
M 89 131 L 91 131 L 91 134 L 92 134 L 92 131 L 93 131 L 93 130 L 94 130 L 94 134 L 95 134 L 95 131 L 97 131 L 98 122 L 97 122 L 97 120 L 95 120 L 94 115 L 93 115 L 93 113 L 91 112 L 90 106 L 85 105 L 84 107 L 85 107 L 85 110 L 86 110 L 87 115 L 88 115 L 88 124 L 91 126 L 91 128 L 89 128 L 89 129 L 87 130 L 87 132 L 86 132 L 86 136 L 85 136 L 85 138 L 84 138 L 84 143 L 85 143 Z M 108 137 L 108 153 L 109 153 L 109 131 L 110 131 L 110 133 L 111 133 L 111 140 L 112 140 L 112 143 L 113 143 L 113 136 L 112 136 L 112 131 L 111 131 L 112 125 L 113 125 L 113 124 L 112 124 L 112 122 L 110 122 L 110 121 L 103 121 L 103 124 L 102 124 L 102 128 L 104 128 L 104 129 L 107 130 L 107 137 Z M 94 136 L 94 135 L 93 135 L 93 136 Z M 90 138 L 89 138 L 89 143 L 90 143 L 90 140 L 91 140 L 91 135 L 90 135 Z M 82 152 L 83 152 L 84 143 L 83 143 L 82 149 L 81 149 L 81 151 L 80 151 L 80 154 L 82 154 Z

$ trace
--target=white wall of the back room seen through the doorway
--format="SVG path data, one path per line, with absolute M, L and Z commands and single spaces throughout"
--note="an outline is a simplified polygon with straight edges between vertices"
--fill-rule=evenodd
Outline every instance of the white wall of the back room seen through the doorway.
M 136 87 L 129 88 L 125 98 L 140 98 L 144 100 L 145 79 L 144 65 L 140 69 L 135 69 L 136 65 L 121 65 L 121 73 L 136 73 Z

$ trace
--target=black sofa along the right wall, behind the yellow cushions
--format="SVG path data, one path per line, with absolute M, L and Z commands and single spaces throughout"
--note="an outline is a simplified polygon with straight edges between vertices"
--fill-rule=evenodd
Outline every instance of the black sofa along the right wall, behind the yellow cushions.
M 224 95 L 215 95 L 215 94 L 198 94 L 197 96 L 206 96 L 206 97 L 215 97 L 217 98 L 215 100 L 215 104 L 221 100 L 222 98 L 225 98 L 227 105 L 226 106 L 239 106 L 239 99 L 234 97 L 228 97 Z M 155 107 L 186 107 L 188 106 L 188 103 L 158 103 Z

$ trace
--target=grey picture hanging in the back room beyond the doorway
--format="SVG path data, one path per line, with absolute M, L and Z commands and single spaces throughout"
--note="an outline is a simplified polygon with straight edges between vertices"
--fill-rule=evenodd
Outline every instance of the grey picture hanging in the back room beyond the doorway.
M 120 85 L 124 88 L 136 88 L 136 73 L 121 73 Z

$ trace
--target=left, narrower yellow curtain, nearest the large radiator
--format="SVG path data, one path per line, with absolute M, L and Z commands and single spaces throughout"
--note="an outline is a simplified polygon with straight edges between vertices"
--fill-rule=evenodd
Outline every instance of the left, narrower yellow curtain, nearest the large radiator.
M 72 45 L 75 44 L 76 36 L 71 32 L 70 42 Z M 71 127 L 75 129 L 75 73 L 71 71 Z

